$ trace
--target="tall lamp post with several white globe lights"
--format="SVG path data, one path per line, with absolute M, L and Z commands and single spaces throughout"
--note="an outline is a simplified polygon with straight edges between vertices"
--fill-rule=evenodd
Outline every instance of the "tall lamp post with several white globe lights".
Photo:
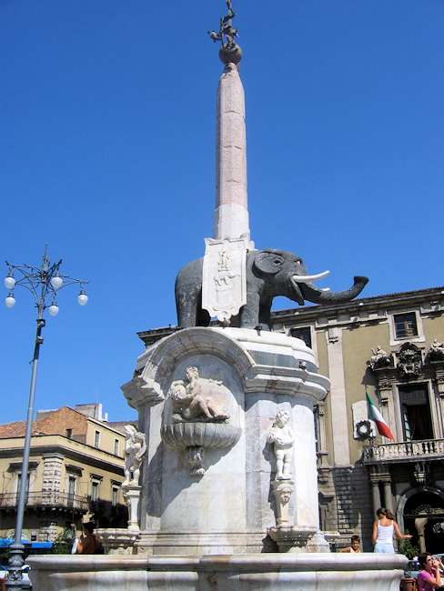
M 17 517 L 15 522 L 15 540 L 10 548 L 9 556 L 9 574 L 6 582 L 7 589 L 22 589 L 29 588 L 27 583 L 23 581 L 22 566 L 25 562 L 24 550 L 25 546 L 22 544 L 22 529 L 23 519 L 25 513 L 25 496 L 27 489 L 27 472 L 29 466 L 29 452 L 31 446 L 31 435 L 34 415 L 34 396 L 35 383 L 37 378 L 37 364 L 40 354 L 40 346 L 43 344 L 42 331 L 45 327 L 45 310 L 50 316 L 56 316 L 58 313 L 57 293 L 67 285 L 79 285 L 80 293 L 77 301 L 80 306 L 85 306 L 88 297 L 84 290 L 84 285 L 88 282 L 82 279 L 74 279 L 68 275 L 60 273 L 60 266 L 62 260 L 51 264 L 46 252 L 43 255 L 43 261 L 40 266 L 33 265 L 12 265 L 6 261 L 8 266 L 8 274 L 5 277 L 5 287 L 8 290 L 8 295 L 5 298 L 5 305 L 8 308 L 15 306 L 15 287 L 25 287 L 35 299 L 35 307 L 37 308 L 37 328 L 35 334 L 34 356 L 32 360 L 31 371 L 31 386 L 29 388 L 29 402 L 26 416 L 26 430 L 25 430 L 25 446 L 23 449 L 22 462 L 22 476 L 20 478 L 20 486 L 18 491 L 18 506 Z

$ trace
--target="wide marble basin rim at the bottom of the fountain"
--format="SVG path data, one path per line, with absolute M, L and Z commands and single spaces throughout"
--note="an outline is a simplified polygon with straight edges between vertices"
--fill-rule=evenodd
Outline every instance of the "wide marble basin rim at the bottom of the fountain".
M 407 558 L 370 554 L 35 556 L 35 591 L 399 591 Z

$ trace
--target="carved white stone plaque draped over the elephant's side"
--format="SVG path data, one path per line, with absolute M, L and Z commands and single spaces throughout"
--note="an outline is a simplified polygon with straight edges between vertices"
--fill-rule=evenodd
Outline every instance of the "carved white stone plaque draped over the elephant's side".
M 244 237 L 205 239 L 202 307 L 228 322 L 247 303 L 247 242 Z

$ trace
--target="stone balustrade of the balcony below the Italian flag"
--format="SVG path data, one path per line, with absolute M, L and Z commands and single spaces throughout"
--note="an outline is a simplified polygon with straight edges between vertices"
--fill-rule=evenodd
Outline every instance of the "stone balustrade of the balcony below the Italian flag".
M 424 439 L 422 441 L 404 441 L 364 449 L 364 464 L 378 462 L 405 462 L 444 458 L 444 439 Z

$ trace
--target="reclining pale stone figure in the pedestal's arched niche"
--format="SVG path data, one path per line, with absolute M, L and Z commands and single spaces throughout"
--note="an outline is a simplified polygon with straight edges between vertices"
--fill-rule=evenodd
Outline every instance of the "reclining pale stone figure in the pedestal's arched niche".
M 214 382 L 220 386 L 222 382 Z M 196 420 L 203 416 L 208 421 L 223 421 L 229 418 L 218 407 L 211 396 L 205 396 L 204 386 L 197 367 L 187 367 L 186 379 L 173 383 L 170 396 L 175 411 L 185 420 Z

